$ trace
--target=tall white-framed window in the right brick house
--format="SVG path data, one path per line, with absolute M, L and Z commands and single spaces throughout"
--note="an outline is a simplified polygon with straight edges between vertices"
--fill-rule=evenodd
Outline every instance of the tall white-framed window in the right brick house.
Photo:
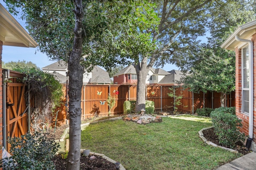
M 242 49 L 242 112 L 249 113 L 249 49 Z

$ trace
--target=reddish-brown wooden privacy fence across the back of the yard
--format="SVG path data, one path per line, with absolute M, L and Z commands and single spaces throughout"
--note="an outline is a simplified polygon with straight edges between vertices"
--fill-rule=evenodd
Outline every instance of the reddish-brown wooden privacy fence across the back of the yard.
M 63 86 L 66 88 L 66 85 Z M 168 93 L 173 86 L 146 86 L 146 100 L 154 101 L 155 111 L 168 111 L 173 109 L 174 98 L 170 98 Z M 136 100 L 136 85 L 93 85 L 88 84 L 82 87 L 82 119 L 91 118 L 94 114 L 90 113 L 92 107 L 96 104 L 100 109 L 100 117 L 108 116 L 109 107 L 106 104 L 108 94 L 114 96 L 116 99 L 115 106 L 110 110 L 111 114 L 123 113 L 123 104 L 127 100 Z M 220 93 L 203 93 L 196 94 L 190 92 L 188 89 L 182 89 L 181 87 L 175 88 L 176 95 L 178 96 L 181 92 L 182 106 L 177 106 L 178 111 L 185 113 L 194 114 L 197 108 L 209 107 L 217 108 L 220 107 Z M 66 103 L 66 101 L 64 102 Z M 184 107 L 186 106 L 186 107 Z M 226 94 L 226 106 L 235 106 L 235 92 Z M 66 118 L 66 107 L 59 107 L 58 110 L 58 122 L 65 122 Z M 63 124 L 63 123 L 61 123 Z

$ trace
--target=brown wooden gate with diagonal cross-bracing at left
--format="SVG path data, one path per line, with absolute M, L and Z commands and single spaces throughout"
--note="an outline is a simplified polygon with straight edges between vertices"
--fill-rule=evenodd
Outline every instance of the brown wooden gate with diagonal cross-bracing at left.
M 12 78 L 6 86 L 6 135 L 8 137 L 20 137 L 28 131 L 27 107 L 25 101 L 25 85 Z M 8 150 L 10 145 L 7 142 Z

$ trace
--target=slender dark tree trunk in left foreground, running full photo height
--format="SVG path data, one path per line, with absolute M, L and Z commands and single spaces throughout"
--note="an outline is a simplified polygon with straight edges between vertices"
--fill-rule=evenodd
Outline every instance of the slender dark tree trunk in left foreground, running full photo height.
M 81 96 L 83 85 L 84 68 L 80 64 L 82 53 L 82 4 L 81 0 L 74 0 L 76 5 L 75 28 L 74 28 L 74 46 L 68 60 L 68 76 L 69 76 L 69 151 L 67 170 L 80 169 L 80 149 L 81 149 Z

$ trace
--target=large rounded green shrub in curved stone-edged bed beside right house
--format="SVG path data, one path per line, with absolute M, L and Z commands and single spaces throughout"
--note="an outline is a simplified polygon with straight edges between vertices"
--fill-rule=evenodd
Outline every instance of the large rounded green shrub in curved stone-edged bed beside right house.
M 238 141 L 244 141 L 245 135 L 240 133 L 241 120 L 235 115 L 235 107 L 220 107 L 212 111 L 212 124 L 220 144 L 235 148 Z

